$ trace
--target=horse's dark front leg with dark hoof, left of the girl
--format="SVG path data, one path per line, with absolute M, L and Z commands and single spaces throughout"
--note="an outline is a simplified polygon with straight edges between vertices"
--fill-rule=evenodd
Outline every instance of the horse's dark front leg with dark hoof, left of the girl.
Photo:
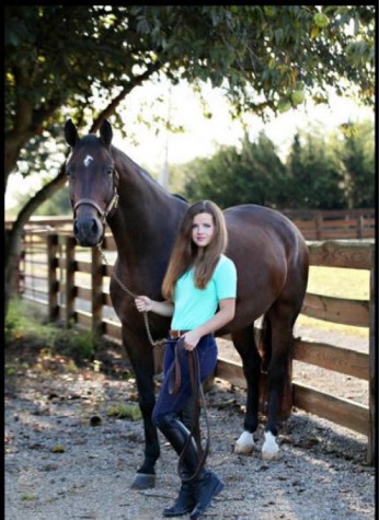
M 147 489 L 156 485 L 154 465 L 160 455 L 158 431 L 151 420 L 156 404 L 153 353 L 149 344 L 124 326 L 123 338 L 136 375 L 138 402 L 145 429 L 145 459 L 142 465 L 137 470 L 131 487 L 134 489 Z

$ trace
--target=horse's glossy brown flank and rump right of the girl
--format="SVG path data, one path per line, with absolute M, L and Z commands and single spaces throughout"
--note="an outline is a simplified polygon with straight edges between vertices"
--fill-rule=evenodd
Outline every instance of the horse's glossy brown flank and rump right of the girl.
M 289 285 L 291 291 L 305 292 L 308 247 L 287 217 L 257 205 L 233 206 L 225 210 L 225 217 L 227 255 L 238 273 L 236 322 L 265 313 Z

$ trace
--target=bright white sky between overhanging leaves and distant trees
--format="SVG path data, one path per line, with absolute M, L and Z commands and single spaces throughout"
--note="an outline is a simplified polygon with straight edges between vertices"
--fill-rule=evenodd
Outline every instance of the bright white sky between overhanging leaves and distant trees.
M 204 117 L 200 102 L 187 83 L 170 86 L 168 82 L 160 82 L 135 89 L 123 105 L 127 137 L 122 138 L 114 130 L 113 143 L 146 170 L 160 174 L 162 183 L 166 162 L 170 170 L 170 164 L 185 163 L 196 157 L 211 157 L 218 146 L 238 146 L 244 130 L 241 123 L 232 120 L 221 91 L 207 86 L 204 96 L 213 114 L 209 119 Z M 163 99 L 163 103 L 157 103 L 159 97 Z M 157 125 L 147 128 L 140 122 L 143 117 L 152 119 L 157 114 L 163 119 L 169 117 L 175 126 L 183 126 L 184 131 L 172 134 L 161 130 L 156 134 Z M 307 130 L 311 125 L 320 124 L 329 132 L 342 123 L 367 118 L 374 120 L 374 117 L 371 109 L 332 95 L 331 106 L 314 106 L 310 100 L 306 100 L 298 108 L 280 114 L 269 123 L 264 124 L 253 115 L 246 116 L 245 120 L 252 141 L 264 130 L 276 145 L 277 152 L 285 158 L 298 129 Z M 39 189 L 39 178 L 22 178 L 21 175 L 12 174 L 5 194 L 5 210 L 14 205 L 13 193 Z

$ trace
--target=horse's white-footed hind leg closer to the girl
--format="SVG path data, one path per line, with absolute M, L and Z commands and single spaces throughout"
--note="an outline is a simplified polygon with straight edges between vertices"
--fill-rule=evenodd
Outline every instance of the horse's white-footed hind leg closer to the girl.
M 261 356 L 254 338 L 254 324 L 232 334 L 232 342 L 242 359 L 246 380 L 246 412 L 243 432 L 236 442 L 234 453 L 251 453 L 254 448 L 253 434 L 257 428 L 260 402 Z

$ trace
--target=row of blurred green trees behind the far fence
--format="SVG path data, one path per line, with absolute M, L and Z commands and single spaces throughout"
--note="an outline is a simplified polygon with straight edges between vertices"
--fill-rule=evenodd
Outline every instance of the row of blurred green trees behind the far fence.
M 191 200 L 215 200 L 222 208 L 255 203 L 277 209 L 372 207 L 375 154 L 372 122 L 321 126 L 294 137 L 285 163 L 264 132 L 256 142 L 222 147 L 210 159 L 174 167 Z

